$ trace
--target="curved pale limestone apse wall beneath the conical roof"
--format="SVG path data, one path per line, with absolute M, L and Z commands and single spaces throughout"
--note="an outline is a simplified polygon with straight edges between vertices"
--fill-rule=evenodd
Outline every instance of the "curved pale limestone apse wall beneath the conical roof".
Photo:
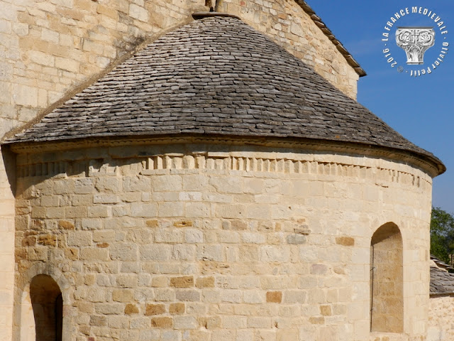
M 23 149 L 17 175 L 16 301 L 29 269 L 55 268 L 69 340 L 426 335 L 431 178 L 419 169 L 296 147 L 139 144 Z M 371 333 L 371 237 L 388 222 L 402 233 L 403 332 Z

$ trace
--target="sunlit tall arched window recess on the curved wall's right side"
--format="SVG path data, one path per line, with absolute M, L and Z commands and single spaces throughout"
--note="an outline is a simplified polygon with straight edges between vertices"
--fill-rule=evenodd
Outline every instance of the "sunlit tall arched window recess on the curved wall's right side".
M 404 331 L 403 244 L 392 222 L 375 231 L 370 242 L 370 330 Z

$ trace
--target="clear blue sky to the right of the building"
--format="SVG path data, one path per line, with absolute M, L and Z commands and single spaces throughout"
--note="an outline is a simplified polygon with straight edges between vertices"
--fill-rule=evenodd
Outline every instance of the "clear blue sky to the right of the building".
M 359 1 L 359 0 L 307 0 L 308 4 L 331 29 L 336 38 L 353 55 L 367 72 L 358 82 L 358 102 L 374 112 L 406 139 L 430 151 L 448 168 L 433 180 L 433 206 L 454 213 L 454 1 Z M 398 62 L 394 68 L 387 63 L 382 52 L 382 33 L 390 17 L 400 9 L 421 6 L 435 12 L 446 26 L 441 35 L 433 19 L 423 14 L 402 16 L 394 23 L 389 34 L 390 55 Z M 439 22 L 439 21 L 438 21 Z M 406 55 L 397 47 L 396 26 L 433 26 L 435 45 L 424 55 L 427 67 L 436 60 L 448 42 L 443 63 L 431 74 L 411 77 L 397 72 L 421 69 L 406 65 Z M 441 26 L 441 27 L 443 27 Z M 393 31 L 394 30 L 394 31 Z M 428 63 L 430 62 L 430 63 Z

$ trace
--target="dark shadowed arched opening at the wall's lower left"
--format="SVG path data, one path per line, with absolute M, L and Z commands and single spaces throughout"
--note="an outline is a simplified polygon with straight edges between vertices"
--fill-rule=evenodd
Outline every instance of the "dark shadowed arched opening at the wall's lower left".
M 58 284 L 48 275 L 35 276 L 30 298 L 36 341 L 62 341 L 63 299 Z

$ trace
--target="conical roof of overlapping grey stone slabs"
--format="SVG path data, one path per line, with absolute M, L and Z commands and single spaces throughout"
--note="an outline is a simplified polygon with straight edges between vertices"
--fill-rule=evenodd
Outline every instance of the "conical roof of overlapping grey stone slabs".
M 165 34 L 9 143 L 172 134 L 382 146 L 444 171 L 438 158 L 233 16 L 206 16 Z

